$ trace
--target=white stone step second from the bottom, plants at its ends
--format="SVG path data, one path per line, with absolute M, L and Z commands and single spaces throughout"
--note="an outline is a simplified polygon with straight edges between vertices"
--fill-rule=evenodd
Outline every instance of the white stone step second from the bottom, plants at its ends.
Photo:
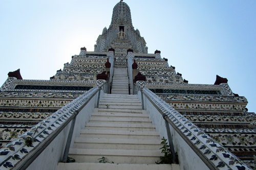
M 77 149 L 71 148 L 69 157 L 76 162 L 99 162 L 102 156 L 115 163 L 136 163 L 136 164 L 155 164 L 161 151 L 140 151 L 140 150 L 106 150 L 106 149 Z

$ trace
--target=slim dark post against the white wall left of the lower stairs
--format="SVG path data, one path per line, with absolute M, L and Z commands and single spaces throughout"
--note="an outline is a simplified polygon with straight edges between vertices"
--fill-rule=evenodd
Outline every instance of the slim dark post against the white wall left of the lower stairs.
M 61 161 L 61 162 L 64 162 L 64 163 L 66 163 L 67 160 L 68 160 L 69 149 L 70 149 L 70 145 L 71 145 L 71 139 L 72 139 L 72 136 L 73 136 L 74 127 L 75 127 L 75 123 L 76 123 L 76 115 L 79 112 L 76 110 L 74 113 L 75 113 L 75 117 L 73 118 L 70 129 L 69 129 L 69 135 L 68 135 L 65 151 L 64 151 L 62 161 Z

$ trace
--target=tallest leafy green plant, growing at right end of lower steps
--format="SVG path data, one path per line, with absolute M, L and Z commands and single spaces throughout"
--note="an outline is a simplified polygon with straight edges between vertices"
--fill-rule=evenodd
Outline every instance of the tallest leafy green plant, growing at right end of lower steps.
M 158 160 L 156 162 L 156 164 L 172 164 L 172 163 L 178 163 L 178 154 L 177 152 L 175 153 L 176 156 L 176 160 L 175 162 L 173 162 L 173 154 L 170 151 L 170 146 L 167 143 L 167 139 L 165 139 L 164 137 L 162 138 L 162 142 L 161 144 L 163 144 L 163 147 L 160 148 L 162 149 L 162 153 L 164 154 L 164 156 L 160 156 L 160 161 Z

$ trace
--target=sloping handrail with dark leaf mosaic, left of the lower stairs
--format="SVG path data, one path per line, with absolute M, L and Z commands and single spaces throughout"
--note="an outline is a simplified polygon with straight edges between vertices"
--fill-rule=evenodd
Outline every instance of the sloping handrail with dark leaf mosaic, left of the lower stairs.
M 0 149 L 0 169 L 2 169 L 1 167 L 26 169 L 100 91 L 101 87 L 94 87 L 88 90 L 6 144 L 5 148 Z M 72 128 L 70 128 L 71 130 Z M 28 137 L 33 139 L 29 145 L 26 143 Z

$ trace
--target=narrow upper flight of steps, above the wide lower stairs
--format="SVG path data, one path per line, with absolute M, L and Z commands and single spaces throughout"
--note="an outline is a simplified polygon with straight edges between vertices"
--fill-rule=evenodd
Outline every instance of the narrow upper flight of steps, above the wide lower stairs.
M 117 65 L 114 69 L 112 94 L 129 94 L 129 81 L 126 66 Z

